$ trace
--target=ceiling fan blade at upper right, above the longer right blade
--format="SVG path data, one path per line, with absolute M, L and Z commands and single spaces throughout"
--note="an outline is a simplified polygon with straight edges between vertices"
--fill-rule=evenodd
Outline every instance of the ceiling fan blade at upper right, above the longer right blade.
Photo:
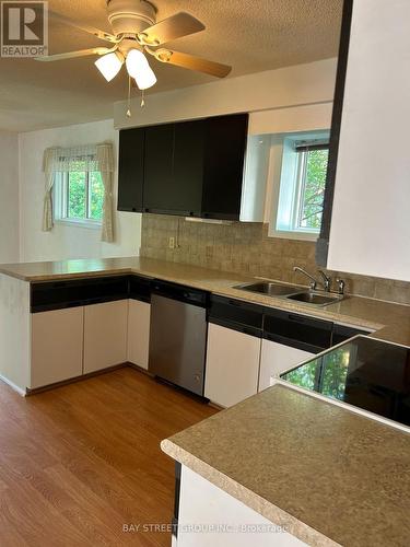
M 172 18 L 164 19 L 155 25 L 149 26 L 138 34 L 138 39 L 147 46 L 159 46 L 189 34 L 199 33 L 204 30 L 204 25 L 189 13 L 176 13 Z

